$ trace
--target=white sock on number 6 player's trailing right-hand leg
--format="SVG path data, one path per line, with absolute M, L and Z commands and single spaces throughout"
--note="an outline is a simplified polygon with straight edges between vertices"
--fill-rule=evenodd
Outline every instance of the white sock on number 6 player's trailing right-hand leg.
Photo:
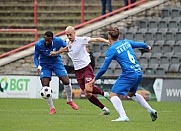
M 150 110 L 152 110 L 152 108 L 150 107 L 150 105 L 146 102 L 146 100 L 143 98 L 142 95 L 136 93 L 136 96 L 132 96 L 131 99 L 133 99 L 134 101 L 138 102 L 142 107 L 144 107 L 148 112 Z

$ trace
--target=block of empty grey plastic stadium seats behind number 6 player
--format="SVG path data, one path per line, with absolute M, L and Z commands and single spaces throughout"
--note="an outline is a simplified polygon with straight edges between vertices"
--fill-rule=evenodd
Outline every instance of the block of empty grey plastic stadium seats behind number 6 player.
M 165 76 L 173 72 L 181 74 L 181 9 L 166 7 L 160 10 L 161 17 L 142 19 L 138 25 L 120 32 L 121 39 L 143 41 L 152 47 L 151 53 L 135 50 L 144 75 Z M 119 66 L 118 66 L 119 67 Z M 116 70 L 121 70 L 116 67 Z

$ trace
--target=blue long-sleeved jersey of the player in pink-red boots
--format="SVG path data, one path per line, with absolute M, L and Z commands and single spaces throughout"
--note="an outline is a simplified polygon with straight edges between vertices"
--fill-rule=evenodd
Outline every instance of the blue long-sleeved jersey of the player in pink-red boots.
M 34 52 L 34 63 L 38 67 L 39 65 L 52 65 L 56 63 L 62 63 L 62 58 L 58 54 L 54 57 L 50 56 L 51 51 L 58 51 L 61 47 L 65 47 L 67 45 L 59 37 L 53 37 L 52 45 L 50 47 L 45 46 L 44 38 L 39 40 L 35 45 Z

